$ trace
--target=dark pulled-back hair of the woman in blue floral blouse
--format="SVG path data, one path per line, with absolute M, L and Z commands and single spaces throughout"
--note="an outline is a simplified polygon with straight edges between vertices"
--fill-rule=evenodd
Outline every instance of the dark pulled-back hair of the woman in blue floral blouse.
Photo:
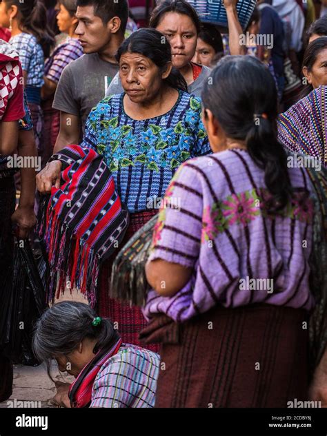
M 170 43 L 163 34 L 155 29 L 139 29 L 133 32 L 119 47 L 116 59 L 119 62 L 124 53 L 139 53 L 150 59 L 164 72 L 168 62 L 172 61 Z M 179 70 L 172 70 L 164 82 L 177 90 L 186 91 L 188 85 Z

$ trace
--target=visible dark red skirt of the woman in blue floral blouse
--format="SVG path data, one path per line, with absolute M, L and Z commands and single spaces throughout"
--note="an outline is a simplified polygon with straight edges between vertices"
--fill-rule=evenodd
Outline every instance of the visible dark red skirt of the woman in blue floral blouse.
M 143 225 L 148 222 L 158 211 L 146 211 L 139 214 L 131 214 L 130 225 L 126 232 L 125 240 L 123 245 L 128 242 L 128 240 L 141 229 Z M 123 342 L 127 344 L 134 344 L 138 346 L 144 346 L 139 340 L 139 333 L 147 325 L 146 319 L 143 317 L 141 308 L 130 307 L 129 304 L 119 302 L 115 299 L 109 298 L 108 287 L 111 275 L 113 259 L 105 262 L 101 269 L 100 274 L 100 292 L 99 292 L 99 303 L 98 311 L 99 315 L 103 318 L 110 318 L 114 323 L 117 323 L 117 329 L 121 335 Z M 158 344 L 150 344 L 146 346 L 150 351 L 159 351 Z

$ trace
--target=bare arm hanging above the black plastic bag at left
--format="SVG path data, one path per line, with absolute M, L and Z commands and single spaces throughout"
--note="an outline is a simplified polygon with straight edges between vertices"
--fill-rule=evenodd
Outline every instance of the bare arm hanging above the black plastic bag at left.
M 37 156 L 33 130 L 19 132 L 18 154 L 21 157 Z M 28 238 L 36 222 L 34 214 L 36 169 L 35 167 L 21 168 L 21 197 L 19 206 L 12 215 L 12 222 L 18 225 L 17 236 L 21 239 Z

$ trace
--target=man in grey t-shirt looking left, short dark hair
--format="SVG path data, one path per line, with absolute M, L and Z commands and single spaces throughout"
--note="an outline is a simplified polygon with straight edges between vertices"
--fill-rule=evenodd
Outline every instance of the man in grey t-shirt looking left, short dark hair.
M 58 83 L 53 107 L 61 112 L 60 132 L 54 152 L 81 141 L 88 114 L 119 69 L 115 53 L 128 20 L 127 0 L 77 0 L 77 6 L 75 33 L 86 54 L 63 70 Z

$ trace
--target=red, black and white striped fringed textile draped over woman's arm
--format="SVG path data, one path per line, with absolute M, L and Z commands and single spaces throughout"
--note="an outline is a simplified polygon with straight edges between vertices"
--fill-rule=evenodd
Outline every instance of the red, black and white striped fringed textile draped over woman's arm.
M 101 262 L 123 240 L 128 211 L 106 163 L 94 150 L 69 145 L 52 160 L 62 163 L 62 184 L 42 199 L 37 225 L 50 265 L 48 300 L 76 287 L 95 307 Z

